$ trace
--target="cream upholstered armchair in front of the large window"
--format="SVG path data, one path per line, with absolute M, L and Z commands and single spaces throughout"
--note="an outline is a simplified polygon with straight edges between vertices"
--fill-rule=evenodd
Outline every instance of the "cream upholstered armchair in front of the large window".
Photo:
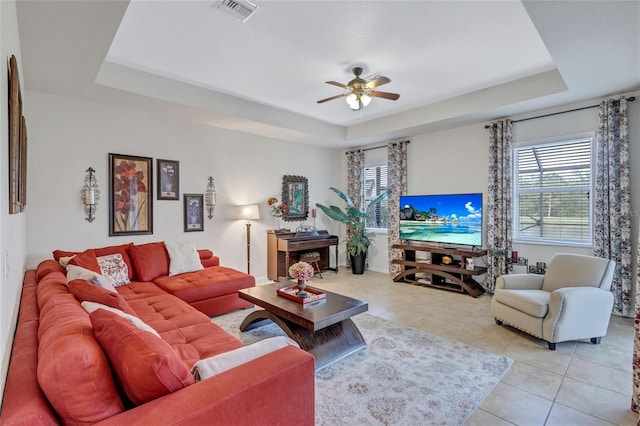
M 615 266 L 609 259 L 559 253 L 545 275 L 500 276 L 491 300 L 496 324 L 544 339 L 551 350 L 567 340 L 598 344 L 611 318 Z

